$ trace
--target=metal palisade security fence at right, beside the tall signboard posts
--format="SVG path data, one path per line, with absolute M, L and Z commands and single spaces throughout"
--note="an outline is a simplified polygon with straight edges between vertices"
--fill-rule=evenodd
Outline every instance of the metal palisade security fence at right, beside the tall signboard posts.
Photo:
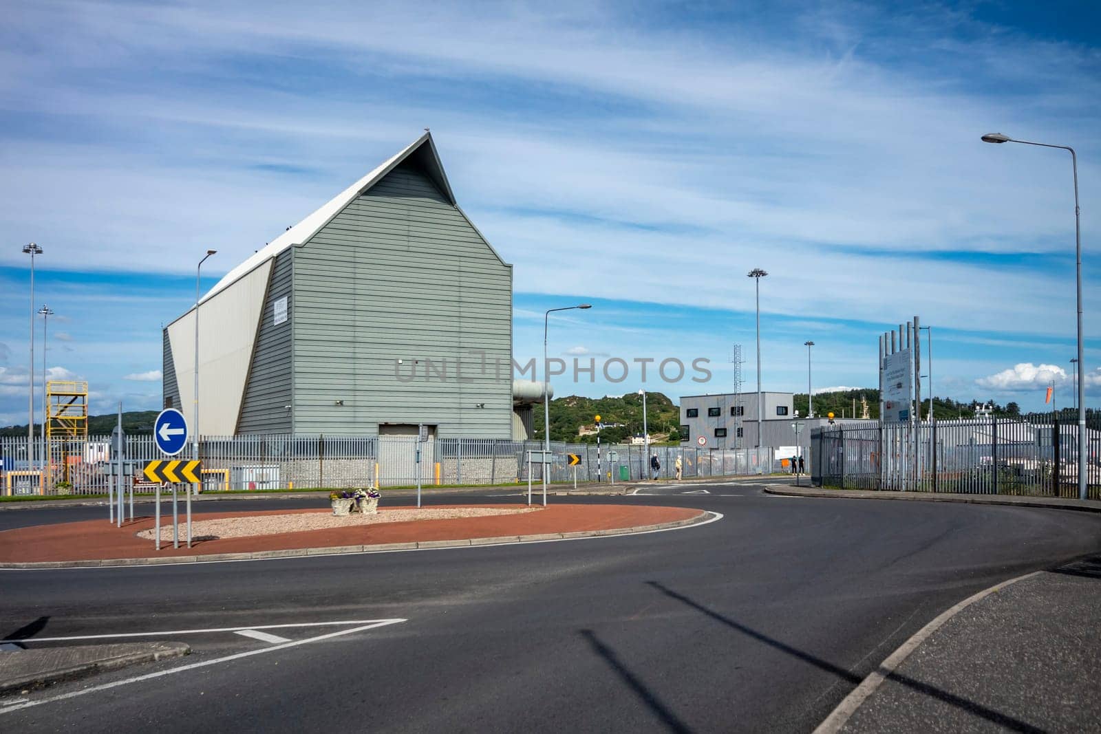
M 1087 484 L 1101 499 L 1101 421 L 1087 424 Z M 824 486 L 1078 497 L 1078 423 L 1053 414 L 811 432 L 811 480 Z

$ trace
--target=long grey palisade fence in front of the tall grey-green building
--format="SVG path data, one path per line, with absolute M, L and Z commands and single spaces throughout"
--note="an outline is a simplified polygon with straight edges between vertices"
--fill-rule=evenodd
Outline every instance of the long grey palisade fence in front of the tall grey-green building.
M 539 441 L 437 438 L 418 443 L 415 436 L 290 436 L 209 437 L 199 442 L 203 491 L 288 490 L 306 487 L 473 485 L 526 482 L 527 451 Z M 552 442 L 549 482 L 625 482 L 651 476 L 645 447 Z M 658 479 L 673 479 L 677 457 L 682 475 L 724 476 L 786 471 L 771 448 L 711 450 L 698 447 L 651 446 L 657 457 Z M 189 459 L 190 446 L 177 459 Z M 569 454 L 579 457 L 568 464 Z M 124 461 L 137 467 L 163 459 L 152 436 L 127 438 Z M 419 460 L 418 460 L 419 459 Z M 113 460 L 107 436 L 55 441 L 43 482 L 47 494 L 106 493 Z M 42 447 L 35 442 L 28 460 L 26 439 L 0 438 L 0 494 L 37 494 L 42 481 Z M 543 481 L 538 454 L 532 479 Z

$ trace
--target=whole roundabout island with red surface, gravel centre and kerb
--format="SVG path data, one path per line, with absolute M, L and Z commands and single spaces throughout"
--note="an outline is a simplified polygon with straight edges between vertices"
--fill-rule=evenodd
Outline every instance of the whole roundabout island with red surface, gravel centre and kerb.
M 216 512 L 193 522 L 190 548 L 186 526 L 181 524 L 179 547 L 173 547 L 171 518 L 162 518 L 160 549 L 153 517 L 135 517 L 121 527 L 81 521 L 0 533 L 0 568 L 253 560 L 564 540 L 672 529 L 715 517 L 688 507 L 620 504 L 395 506 L 350 516 L 325 508 Z

